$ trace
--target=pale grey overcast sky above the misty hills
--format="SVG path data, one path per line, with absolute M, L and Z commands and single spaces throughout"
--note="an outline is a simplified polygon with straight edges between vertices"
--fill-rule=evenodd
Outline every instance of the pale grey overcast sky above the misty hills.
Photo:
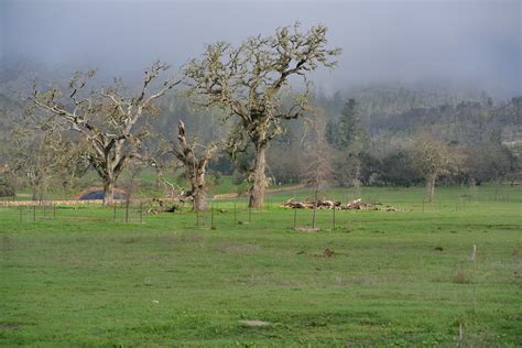
M 70 70 L 141 74 L 153 61 L 180 65 L 204 43 L 270 34 L 295 21 L 325 24 L 339 67 L 326 90 L 359 83 L 464 81 L 521 95 L 520 0 L 50 1 L 0 0 L 3 61 L 30 57 Z

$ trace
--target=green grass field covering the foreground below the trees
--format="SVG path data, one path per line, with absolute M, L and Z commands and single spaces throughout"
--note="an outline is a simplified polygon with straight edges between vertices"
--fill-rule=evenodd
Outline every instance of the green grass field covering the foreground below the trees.
M 520 347 L 522 187 L 493 191 L 331 189 L 401 211 L 336 211 L 333 229 L 323 210 L 317 232 L 276 208 L 306 192 L 250 218 L 216 202 L 214 228 L 210 213 L 0 208 L 0 345 Z

